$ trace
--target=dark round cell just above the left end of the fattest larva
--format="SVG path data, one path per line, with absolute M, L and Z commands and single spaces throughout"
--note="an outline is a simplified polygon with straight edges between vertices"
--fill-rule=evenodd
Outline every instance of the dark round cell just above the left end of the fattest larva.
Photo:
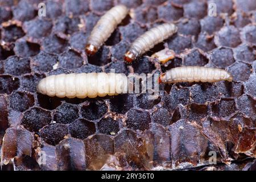
M 31 66 L 35 71 L 48 72 L 52 70 L 52 66 L 56 63 L 56 56 L 40 51 L 38 55 L 32 57 Z

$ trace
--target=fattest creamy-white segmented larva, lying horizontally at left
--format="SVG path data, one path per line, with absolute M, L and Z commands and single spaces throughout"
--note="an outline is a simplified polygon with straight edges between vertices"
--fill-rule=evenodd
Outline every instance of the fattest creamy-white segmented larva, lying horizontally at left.
M 127 83 L 122 73 L 71 73 L 43 78 L 37 89 L 50 97 L 95 98 L 127 93 Z

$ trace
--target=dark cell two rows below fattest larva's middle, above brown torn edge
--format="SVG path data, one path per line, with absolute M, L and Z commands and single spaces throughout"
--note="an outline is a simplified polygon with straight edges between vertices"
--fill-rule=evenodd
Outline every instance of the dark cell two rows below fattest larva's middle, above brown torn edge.
M 68 131 L 74 138 L 85 139 L 96 132 L 93 122 L 86 119 L 76 119 L 68 126 Z

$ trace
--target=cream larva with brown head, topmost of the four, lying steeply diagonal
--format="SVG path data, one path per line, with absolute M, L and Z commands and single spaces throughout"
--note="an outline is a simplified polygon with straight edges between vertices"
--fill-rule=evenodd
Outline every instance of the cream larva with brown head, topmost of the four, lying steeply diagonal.
M 117 25 L 122 22 L 129 10 L 118 5 L 107 11 L 94 26 L 85 47 L 87 55 L 94 55 L 102 44 L 110 37 Z

